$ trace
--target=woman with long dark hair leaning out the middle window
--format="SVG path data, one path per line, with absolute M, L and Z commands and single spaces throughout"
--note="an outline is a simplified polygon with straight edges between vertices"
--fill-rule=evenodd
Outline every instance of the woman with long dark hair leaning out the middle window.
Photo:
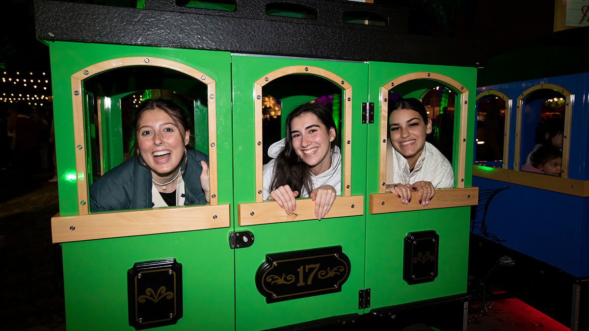
M 332 112 L 322 104 L 300 105 L 286 118 L 286 138 L 272 144 L 273 158 L 263 167 L 263 198 L 275 200 L 286 214 L 296 197 L 315 201 L 315 217 L 329 212 L 341 194 L 342 154 L 335 144 Z

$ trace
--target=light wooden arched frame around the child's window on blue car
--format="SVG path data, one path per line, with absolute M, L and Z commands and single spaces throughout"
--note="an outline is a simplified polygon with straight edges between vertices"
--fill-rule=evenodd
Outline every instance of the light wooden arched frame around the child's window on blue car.
M 568 153 L 570 149 L 571 136 L 571 112 L 573 111 L 573 94 L 567 89 L 555 84 L 538 84 L 528 88 L 517 98 L 517 110 L 515 116 L 515 149 L 514 149 L 514 170 L 519 170 L 521 153 L 521 120 L 525 99 L 538 90 L 554 90 L 564 95 L 564 133 L 562 134 L 562 174 L 561 178 L 568 178 Z

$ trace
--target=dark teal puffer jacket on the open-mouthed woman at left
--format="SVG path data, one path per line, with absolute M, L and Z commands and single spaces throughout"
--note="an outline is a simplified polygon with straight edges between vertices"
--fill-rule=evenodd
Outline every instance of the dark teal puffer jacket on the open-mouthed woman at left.
M 201 160 L 209 164 L 209 157 L 196 150 L 188 150 L 184 181 L 184 206 L 206 204 L 200 186 Z M 143 161 L 143 160 L 141 160 Z M 108 211 L 151 208 L 151 170 L 142 166 L 137 157 L 119 164 L 90 186 L 90 210 Z

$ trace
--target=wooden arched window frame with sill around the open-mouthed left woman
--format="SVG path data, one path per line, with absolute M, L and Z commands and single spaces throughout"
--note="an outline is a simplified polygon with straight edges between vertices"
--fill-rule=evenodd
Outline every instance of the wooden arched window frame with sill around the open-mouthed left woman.
M 209 96 L 210 204 L 207 206 L 155 208 L 89 214 L 82 81 L 111 69 L 140 66 L 172 69 L 207 85 L 207 95 Z M 51 219 L 54 243 L 229 227 L 229 204 L 218 204 L 216 94 L 215 81 L 209 75 L 188 65 L 169 59 L 154 57 L 117 58 L 90 65 L 71 75 L 71 93 L 74 119 L 78 215 L 55 216 Z

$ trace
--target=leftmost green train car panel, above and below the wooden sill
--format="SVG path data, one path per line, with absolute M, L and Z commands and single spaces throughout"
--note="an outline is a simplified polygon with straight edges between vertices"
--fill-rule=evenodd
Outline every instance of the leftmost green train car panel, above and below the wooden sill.
M 219 204 L 233 203 L 232 119 L 227 111 L 231 109 L 229 53 L 71 42 L 52 42 L 49 51 L 55 121 L 60 124 L 55 133 L 60 214 L 78 213 L 70 77 L 98 62 L 135 56 L 177 61 L 216 81 L 217 197 Z M 120 112 L 120 104 L 116 103 L 120 95 L 113 97 L 116 99 L 110 106 L 105 105 L 110 108 L 105 112 L 107 118 L 109 111 L 110 115 Z M 115 118 L 114 122 L 107 130 L 110 143 L 117 135 L 121 137 L 120 120 Z M 110 152 L 120 153 L 113 150 Z M 135 262 L 172 257 L 183 264 L 184 317 L 176 328 L 234 329 L 234 251 L 229 248 L 229 231 L 187 231 L 62 244 L 68 329 L 133 330 L 127 316 L 127 269 Z

